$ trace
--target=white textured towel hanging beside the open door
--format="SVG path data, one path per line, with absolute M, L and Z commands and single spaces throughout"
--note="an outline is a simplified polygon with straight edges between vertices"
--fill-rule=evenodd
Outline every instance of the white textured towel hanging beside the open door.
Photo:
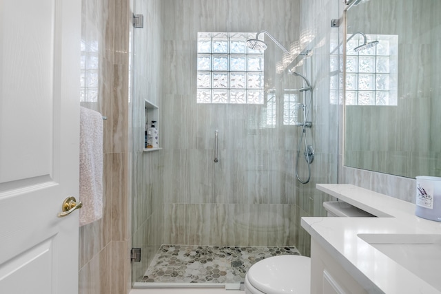
M 103 217 L 103 116 L 80 107 L 80 226 Z

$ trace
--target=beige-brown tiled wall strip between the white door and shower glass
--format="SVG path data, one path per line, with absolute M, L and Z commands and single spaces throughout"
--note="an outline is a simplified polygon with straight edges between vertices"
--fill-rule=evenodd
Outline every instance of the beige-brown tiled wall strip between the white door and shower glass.
M 97 96 L 84 107 L 101 112 L 103 218 L 79 228 L 79 293 L 121 294 L 130 289 L 129 17 L 128 0 L 83 0 L 86 70 L 94 64 Z

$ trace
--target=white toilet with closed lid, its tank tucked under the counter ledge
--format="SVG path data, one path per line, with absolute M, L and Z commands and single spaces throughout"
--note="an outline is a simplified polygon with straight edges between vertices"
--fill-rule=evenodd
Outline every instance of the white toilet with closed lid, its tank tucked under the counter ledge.
M 328 216 L 372 216 L 342 201 L 324 202 Z M 245 275 L 246 294 L 309 294 L 311 259 L 300 255 L 278 255 L 256 262 Z

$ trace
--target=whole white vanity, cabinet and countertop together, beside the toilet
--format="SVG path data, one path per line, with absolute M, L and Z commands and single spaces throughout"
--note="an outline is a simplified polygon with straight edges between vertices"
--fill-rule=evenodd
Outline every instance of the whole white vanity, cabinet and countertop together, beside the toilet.
M 301 218 L 311 235 L 311 293 L 441 294 L 437 259 L 421 247 L 438 246 L 440 222 L 415 216 L 416 204 L 354 185 L 317 188 L 377 218 Z M 378 244 L 389 244 L 388 251 Z M 402 244 L 412 250 L 400 251 Z M 414 251 L 418 258 L 409 258 Z

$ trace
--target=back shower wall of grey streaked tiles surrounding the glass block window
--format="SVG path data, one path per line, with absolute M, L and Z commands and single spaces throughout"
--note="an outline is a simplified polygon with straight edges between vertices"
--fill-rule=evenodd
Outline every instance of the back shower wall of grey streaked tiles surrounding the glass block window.
M 293 244 L 294 145 L 285 138 L 296 129 L 261 127 L 265 105 L 197 104 L 196 36 L 267 30 L 289 45 L 298 39 L 298 1 L 164 2 L 164 243 Z M 282 54 L 268 44 L 265 83 L 276 85 Z

